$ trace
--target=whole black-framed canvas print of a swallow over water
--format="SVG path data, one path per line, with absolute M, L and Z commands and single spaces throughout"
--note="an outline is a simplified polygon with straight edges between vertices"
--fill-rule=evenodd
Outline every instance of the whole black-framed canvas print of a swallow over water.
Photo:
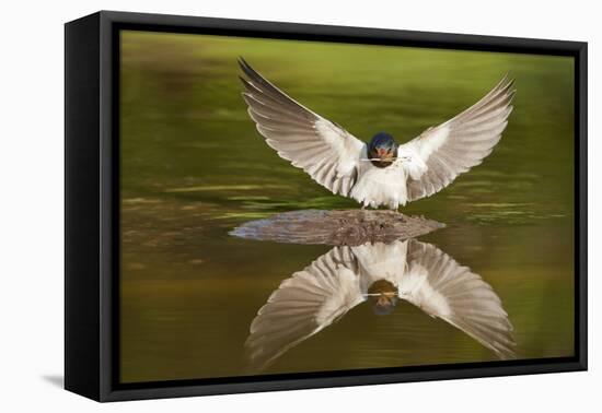
M 66 24 L 68 390 L 587 368 L 584 43 Z

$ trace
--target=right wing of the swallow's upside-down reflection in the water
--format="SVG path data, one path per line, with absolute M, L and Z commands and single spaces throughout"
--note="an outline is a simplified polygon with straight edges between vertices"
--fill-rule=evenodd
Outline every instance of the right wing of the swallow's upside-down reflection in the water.
M 512 324 L 491 286 L 432 245 L 410 243 L 400 297 L 459 328 L 501 358 L 513 357 Z

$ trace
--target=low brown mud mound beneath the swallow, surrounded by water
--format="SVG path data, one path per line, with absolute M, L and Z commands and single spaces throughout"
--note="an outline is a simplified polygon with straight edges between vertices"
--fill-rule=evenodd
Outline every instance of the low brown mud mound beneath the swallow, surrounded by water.
M 409 216 L 394 211 L 305 210 L 251 221 L 230 234 L 277 243 L 356 246 L 413 238 L 444 226 L 424 216 Z

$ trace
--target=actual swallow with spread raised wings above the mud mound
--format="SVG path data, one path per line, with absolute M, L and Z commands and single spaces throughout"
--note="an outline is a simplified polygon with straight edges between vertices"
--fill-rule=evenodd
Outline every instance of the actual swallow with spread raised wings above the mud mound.
M 239 63 L 248 115 L 266 143 L 333 193 L 363 206 L 397 209 L 440 191 L 491 153 L 512 110 L 512 81 L 503 78 L 476 104 L 409 142 L 398 144 L 380 132 L 364 143 L 244 60 Z

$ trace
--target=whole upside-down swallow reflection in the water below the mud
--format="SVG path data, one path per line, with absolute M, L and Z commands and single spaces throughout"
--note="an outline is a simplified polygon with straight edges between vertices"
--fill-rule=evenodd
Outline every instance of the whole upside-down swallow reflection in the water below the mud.
M 386 315 L 398 299 L 445 320 L 502 359 L 514 356 L 512 326 L 491 286 L 435 246 L 409 239 L 335 247 L 282 281 L 251 323 L 250 364 L 266 367 L 360 303 Z

